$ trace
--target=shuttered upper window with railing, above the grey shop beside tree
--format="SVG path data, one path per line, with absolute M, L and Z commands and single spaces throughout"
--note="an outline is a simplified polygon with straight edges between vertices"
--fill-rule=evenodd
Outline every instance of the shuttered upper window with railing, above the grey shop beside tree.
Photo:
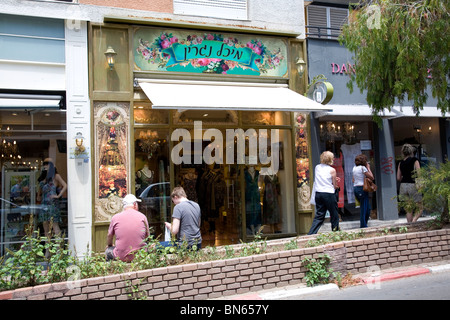
M 347 22 L 348 9 L 310 5 L 307 7 L 306 35 L 336 39 Z

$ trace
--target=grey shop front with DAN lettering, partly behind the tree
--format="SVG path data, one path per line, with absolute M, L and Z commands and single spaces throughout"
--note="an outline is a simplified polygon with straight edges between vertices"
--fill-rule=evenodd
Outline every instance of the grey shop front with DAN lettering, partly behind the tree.
M 315 113 L 312 118 L 311 130 L 316 137 L 312 146 L 317 151 L 312 158 L 314 163 L 318 163 L 318 155 L 325 150 L 335 155 L 335 167 L 341 177 L 338 207 L 342 220 L 359 220 L 352 168 L 355 156 L 361 153 L 367 156 L 378 186 L 378 191 L 370 194 L 371 218 L 397 219 L 396 172 L 398 161 L 402 159 L 401 146 L 404 143 L 416 146 L 416 156 L 422 165 L 443 162 L 448 154 L 448 121 L 442 117 L 436 108 L 437 101 L 429 94 L 427 106 L 419 117 L 405 101 L 403 105 L 395 105 L 391 110 L 385 109 L 380 113 L 379 127 L 373 121 L 364 92 L 355 88 L 350 93 L 347 88 L 349 75 L 358 72 L 352 63 L 352 54 L 335 40 L 308 39 L 307 42 L 310 78 L 321 75 L 325 79 L 323 81 L 333 86 L 332 96 L 326 97 L 332 112 Z

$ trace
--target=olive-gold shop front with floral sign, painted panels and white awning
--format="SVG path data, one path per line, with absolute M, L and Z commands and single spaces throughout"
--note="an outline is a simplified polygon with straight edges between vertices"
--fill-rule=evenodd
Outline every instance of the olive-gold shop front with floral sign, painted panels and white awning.
M 96 250 L 128 192 L 161 236 L 178 185 L 202 209 L 205 245 L 307 231 L 308 114 L 328 108 L 299 94 L 303 41 L 113 24 L 90 34 Z

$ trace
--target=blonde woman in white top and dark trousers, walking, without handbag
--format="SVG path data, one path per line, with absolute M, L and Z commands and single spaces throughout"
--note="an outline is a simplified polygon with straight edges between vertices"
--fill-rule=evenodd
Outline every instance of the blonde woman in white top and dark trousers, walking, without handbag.
M 333 164 L 334 154 L 325 151 L 320 155 L 320 164 L 314 170 L 314 190 L 316 214 L 308 234 L 315 234 L 325 220 L 327 211 L 330 212 L 331 229 L 339 230 L 339 215 L 337 208 L 337 197 L 335 194 L 338 189 L 339 177 L 336 176 L 336 170 L 331 166 Z

